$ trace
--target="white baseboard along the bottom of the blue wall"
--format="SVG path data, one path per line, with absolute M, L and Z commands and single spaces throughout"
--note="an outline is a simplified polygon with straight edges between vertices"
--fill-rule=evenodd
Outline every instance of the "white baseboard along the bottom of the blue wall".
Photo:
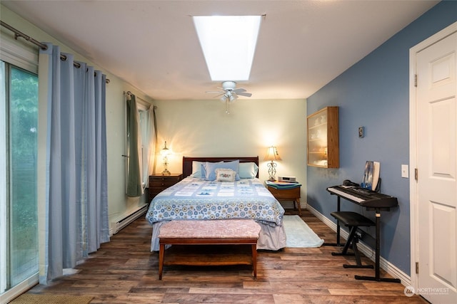
M 308 209 L 314 216 L 320 219 L 323 222 L 323 224 L 326 224 L 328 227 L 330 227 L 333 231 L 336 232 L 336 224 L 333 223 L 333 221 L 326 218 L 326 216 L 323 216 L 323 214 L 314 209 L 312 206 L 307 205 L 306 209 Z M 340 234 L 344 239 L 347 239 L 349 235 L 348 232 L 343 229 L 340 230 Z M 371 261 L 374 262 L 375 253 L 371 247 L 367 246 L 366 243 L 363 243 L 363 241 L 359 241 L 357 248 L 359 251 L 361 251 L 361 253 L 363 253 L 365 256 L 368 256 L 368 258 L 370 258 Z M 393 278 L 399 278 L 403 285 L 411 285 L 411 276 L 408 276 L 406 273 L 398 269 L 395 265 L 387 261 L 382 256 L 381 258 L 379 258 L 379 266 L 388 274 L 393 276 Z

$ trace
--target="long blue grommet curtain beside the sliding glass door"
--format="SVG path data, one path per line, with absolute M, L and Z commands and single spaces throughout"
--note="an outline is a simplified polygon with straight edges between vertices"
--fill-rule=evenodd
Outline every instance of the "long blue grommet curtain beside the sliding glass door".
M 39 80 L 46 85 L 46 201 L 40 283 L 109 241 L 106 174 L 106 75 L 45 43 Z

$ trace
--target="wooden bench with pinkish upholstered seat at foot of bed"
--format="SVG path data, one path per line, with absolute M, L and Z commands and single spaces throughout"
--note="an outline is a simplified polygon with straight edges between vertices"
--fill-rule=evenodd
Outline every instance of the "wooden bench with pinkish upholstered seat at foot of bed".
M 251 219 L 169 221 L 159 231 L 159 280 L 164 271 L 165 245 L 250 245 L 253 278 L 257 278 L 257 239 L 260 226 Z M 169 250 L 169 249 L 167 249 Z M 184 256 L 186 259 L 186 256 Z M 173 264 L 182 264 L 176 263 Z M 245 264 L 243 261 L 204 261 L 199 265 Z M 168 265 L 168 263 L 167 263 Z

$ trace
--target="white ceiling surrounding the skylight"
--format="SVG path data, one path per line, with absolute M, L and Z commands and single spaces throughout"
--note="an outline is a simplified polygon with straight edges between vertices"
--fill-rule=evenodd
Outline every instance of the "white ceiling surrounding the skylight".
M 266 15 L 255 99 L 308 98 L 438 1 L 6 1 L 1 4 L 156 100 L 202 100 L 211 81 L 191 16 Z M 17 28 L 21 31 L 21 28 Z M 33 38 L 33 37 L 32 37 Z M 227 47 L 231 46 L 226 37 Z M 246 97 L 241 97 L 246 98 Z

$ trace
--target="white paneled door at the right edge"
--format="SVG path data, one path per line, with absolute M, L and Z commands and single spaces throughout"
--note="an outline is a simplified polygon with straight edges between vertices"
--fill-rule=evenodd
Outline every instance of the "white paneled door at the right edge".
M 416 54 L 418 290 L 457 303 L 457 33 Z

